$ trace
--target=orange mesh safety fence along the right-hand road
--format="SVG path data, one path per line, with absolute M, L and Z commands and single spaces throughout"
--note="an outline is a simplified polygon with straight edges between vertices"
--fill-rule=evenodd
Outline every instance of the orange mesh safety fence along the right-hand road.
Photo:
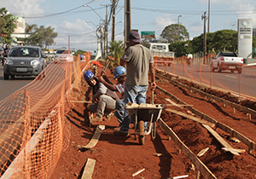
M 256 98 L 254 90 L 256 85 L 253 83 L 256 78 L 255 66 L 236 63 L 237 66 L 242 67 L 241 71 L 235 66 L 229 67 L 229 69 L 224 67 L 223 69 L 218 69 L 218 67 L 212 69 L 213 57 L 215 54 L 209 54 L 205 57 L 195 54 L 190 60 L 187 56 L 175 57 L 171 66 L 157 62 L 154 64 L 156 68 L 162 71 L 171 72 L 175 76 L 186 78 L 197 84 L 207 85 L 209 88 L 224 90 L 242 97 Z M 154 61 L 158 61 L 158 59 L 154 59 Z

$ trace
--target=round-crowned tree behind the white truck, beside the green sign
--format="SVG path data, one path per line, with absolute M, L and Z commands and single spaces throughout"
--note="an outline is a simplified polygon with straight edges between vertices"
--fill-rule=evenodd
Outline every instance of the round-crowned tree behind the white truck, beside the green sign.
M 179 25 L 179 40 L 178 40 L 178 24 L 171 24 L 166 26 L 160 34 L 160 37 L 166 38 L 168 43 L 177 43 L 178 41 L 184 41 L 189 39 L 189 32 L 186 27 Z

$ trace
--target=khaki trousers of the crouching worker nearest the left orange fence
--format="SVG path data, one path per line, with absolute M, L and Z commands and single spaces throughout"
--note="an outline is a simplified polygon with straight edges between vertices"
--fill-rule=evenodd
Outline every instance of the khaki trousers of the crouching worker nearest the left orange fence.
M 100 95 L 96 104 L 91 104 L 89 109 L 92 113 L 96 113 L 96 116 L 102 118 L 115 109 L 115 100 L 109 95 Z

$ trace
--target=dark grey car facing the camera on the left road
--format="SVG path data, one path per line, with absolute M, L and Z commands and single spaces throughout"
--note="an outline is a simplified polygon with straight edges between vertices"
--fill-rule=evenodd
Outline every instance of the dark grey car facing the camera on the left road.
M 42 49 L 37 46 L 15 46 L 10 49 L 9 55 L 3 64 L 3 78 L 15 76 L 38 76 L 45 68 Z

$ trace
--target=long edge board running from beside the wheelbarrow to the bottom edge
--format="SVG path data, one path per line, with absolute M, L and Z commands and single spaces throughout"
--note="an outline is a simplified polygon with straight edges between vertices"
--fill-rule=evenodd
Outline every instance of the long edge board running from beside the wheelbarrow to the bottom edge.
M 177 147 L 180 148 L 180 150 L 186 155 L 189 160 L 195 165 L 196 169 L 201 172 L 201 175 L 204 176 L 207 179 L 216 179 L 216 176 L 214 176 L 207 168 L 206 165 L 204 165 L 200 159 L 198 159 L 195 155 L 195 153 L 192 153 L 187 147 L 183 141 L 181 141 L 178 136 L 173 132 L 173 130 L 161 119 L 159 118 L 157 121 L 161 128 L 166 131 L 166 133 L 171 136 L 172 140 L 176 143 Z

